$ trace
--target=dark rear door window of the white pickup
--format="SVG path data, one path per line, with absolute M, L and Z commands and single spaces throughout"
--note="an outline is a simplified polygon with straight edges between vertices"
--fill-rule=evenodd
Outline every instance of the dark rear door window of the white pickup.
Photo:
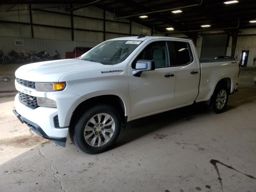
M 193 61 L 190 45 L 187 42 L 171 41 L 168 42 L 172 66 L 187 65 Z

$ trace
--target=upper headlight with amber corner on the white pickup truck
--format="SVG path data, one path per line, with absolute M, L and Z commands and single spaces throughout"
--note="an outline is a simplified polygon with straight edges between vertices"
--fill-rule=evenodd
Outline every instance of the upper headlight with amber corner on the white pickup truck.
M 65 87 L 66 87 L 66 82 L 60 82 L 60 83 L 36 82 L 36 90 L 37 91 L 44 91 L 44 92 L 61 91 L 61 90 L 64 90 Z

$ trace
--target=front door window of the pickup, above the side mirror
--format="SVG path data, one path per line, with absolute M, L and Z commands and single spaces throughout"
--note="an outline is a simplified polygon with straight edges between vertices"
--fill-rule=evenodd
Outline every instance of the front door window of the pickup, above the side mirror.
M 132 68 L 135 68 L 138 60 L 153 60 L 156 68 L 170 66 L 168 49 L 165 41 L 152 42 L 135 59 Z

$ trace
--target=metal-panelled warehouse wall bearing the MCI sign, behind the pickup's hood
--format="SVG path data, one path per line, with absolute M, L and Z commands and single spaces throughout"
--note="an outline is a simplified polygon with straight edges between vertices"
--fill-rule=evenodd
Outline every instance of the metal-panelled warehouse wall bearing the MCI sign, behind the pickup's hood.
M 0 20 L 9 22 L 30 23 L 29 10 L 22 10 L 28 9 L 28 4 L 15 5 L 12 8 L 12 10 L 18 11 L 6 12 L 6 10 L 8 10 L 11 6 L 12 5 L 0 5 Z M 42 8 L 50 6 L 58 7 L 63 5 L 32 4 L 32 8 Z M 67 12 L 65 12 L 64 8 L 47 8 L 44 10 L 68 14 Z M 76 26 L 76 28 L 100 31 L 97 32 L 76 30 L 76 46 L 93 47 L 104 40 L 103 20 L 93 19 L 104 18 L 104 11 L 102 9 L 90 6 L 79 10 L 75 10 L 73 14 L 77 15 L 73 18 L 74 26 Z M 78 16 L 86 16 L 93 18 L 81 18 Z M 106 40 L 128 36 L 130 34 L 130 20 L 118 20 L 120 22 L 126 23 L 115 22 L 114 15 L 110 12 L 106 12 L 106 19 L 109 20 L 106 21 Z M 68 29 L 71 27 L 70 15 L 32 10 L 32 21 L 33 24 L 48 25 L 33 26 L 34 38 L 32 38 L 31 26 L 28 24 L 0 22 L 0 50 L 3 50 L 4 54 L 8 54 L 8 52 L 10 52 L 11 50 L 14 50 L 16 52 L 22 52 L 22 50 L 25 50 L 26 52 L 29 52 L 30 50 L 34 50 L 37 52 L 47 50 L 49 54 L 52 56 L 55 54 L 54 50 L 58 50 L 60 57 L 63 59 L 65 58 L 65 52 L 73 51 L 74 41 L 72 41 L 72 30 Z M 68 28 L 54 28 L 49 26 L 59 26 Z M 132 22 L 132 34 L 150 35 L 151 28 Z M 24 46 L 14 46 L 15 40 L 23 40 Z

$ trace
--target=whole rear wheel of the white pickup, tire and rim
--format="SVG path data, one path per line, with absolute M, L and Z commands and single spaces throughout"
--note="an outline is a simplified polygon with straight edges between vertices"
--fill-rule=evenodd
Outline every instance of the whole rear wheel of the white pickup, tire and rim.
M 217 87 L 210 101 L 210 112 L 221 113 L 228 103 L 228 90 Z

